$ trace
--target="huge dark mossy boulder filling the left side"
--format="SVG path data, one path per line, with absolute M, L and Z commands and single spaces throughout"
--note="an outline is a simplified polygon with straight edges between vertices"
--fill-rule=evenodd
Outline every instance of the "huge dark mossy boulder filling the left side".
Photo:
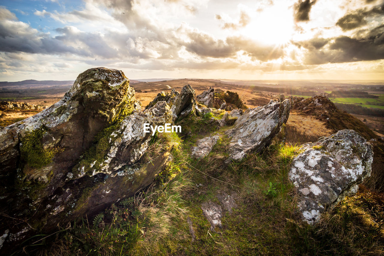
M 152 138 L 143 124 L 171 120 L 164 101 L 143 113 L 122 71 L 92 68 L 55 105 L 1 128 L 0 202 L 10 216 L 0 220 L 0 236 L 7 233 L 2 249 L 96 214 L 149 185 L 170 149 L 140 164 Z

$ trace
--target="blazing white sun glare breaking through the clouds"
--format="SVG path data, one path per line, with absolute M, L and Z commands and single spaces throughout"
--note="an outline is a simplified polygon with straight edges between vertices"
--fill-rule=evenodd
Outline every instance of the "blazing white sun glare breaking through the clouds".
M 240 33 L 265 45 L 283 45 L 295 34 L 293 14 L 288 5 L 274 5 L 256 12 Z

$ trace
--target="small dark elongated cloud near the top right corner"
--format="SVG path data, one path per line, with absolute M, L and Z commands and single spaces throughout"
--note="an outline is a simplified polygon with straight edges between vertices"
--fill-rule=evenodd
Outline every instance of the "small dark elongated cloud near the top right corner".
M 361 27 L 367 24 L 367 17 L 377 17 L 384 15 L 384 5 L 375 6 L 368 10 L 367 8 L 362 8 L 355 10 L 351 13 L 347 13 L 343 17 L 339 18 L 336 22 L 343 31 L 351 30 L 354 28 Z

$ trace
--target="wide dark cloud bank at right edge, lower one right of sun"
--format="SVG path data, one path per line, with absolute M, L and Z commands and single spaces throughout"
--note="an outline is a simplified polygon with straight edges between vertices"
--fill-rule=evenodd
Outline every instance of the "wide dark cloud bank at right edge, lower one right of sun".
M 384 25 L 374 28 L 366 37 L 336 37 L 324 47 L 306 47 L 310 42 L 300 42 L 308 49 L 305 64 L 344 63 L 384 59 Z

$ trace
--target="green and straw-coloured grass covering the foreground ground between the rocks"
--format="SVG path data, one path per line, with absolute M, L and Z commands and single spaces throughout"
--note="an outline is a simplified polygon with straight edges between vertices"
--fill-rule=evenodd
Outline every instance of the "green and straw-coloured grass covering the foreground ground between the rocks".
M 292 159 L 300 153 L 298 144 L 275 140 L 262 153 L 228 162 L 230 140 L 223 131 L 230 127 L 217 130 L 203 118 L 187 118 L 179 124 L 182 138 L 172 135 L 167 141 L 181 145 L 154 184 L 97 216 L 69 223 L 37 249 L 27 247 L 26 251 L 33 248 L 37 255 L 384 253 L 381 195 L 362 189 L 310 226 L 296 212 L 295 192 L 287 175 Z M 209 155 L 191 158 L 190 146 L 212 133 L 221 138 Z M 157 137 L 152 145 L 157 148 L 160 140 L 166 139 Z M 208 200 L 218 202 L 220 191 L 233 195 L 238 207 L 232 214 L 224 212 L 222 228 L 211 231 L 200 206 Z M 194 242 L 187 218 L 192 221 Z

